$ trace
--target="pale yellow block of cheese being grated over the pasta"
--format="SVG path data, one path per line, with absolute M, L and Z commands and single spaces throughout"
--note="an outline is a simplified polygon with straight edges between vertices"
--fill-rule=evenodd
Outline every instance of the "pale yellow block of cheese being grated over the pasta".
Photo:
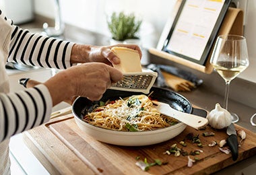
M 115 52 L 115 55 L 120 59 L 120 64 L 113 65 L 113 67 L 123 73 L 142 71 L 139 52 L 137 50 L 125 47 L 113 47 L 111 50 Z

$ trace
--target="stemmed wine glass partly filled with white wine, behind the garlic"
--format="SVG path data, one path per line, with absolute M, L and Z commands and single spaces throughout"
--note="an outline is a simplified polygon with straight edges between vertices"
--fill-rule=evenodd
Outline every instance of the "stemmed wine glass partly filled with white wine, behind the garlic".
M 230 81 L 249 66 L 246 38 L 231 34 L 218 36 L 210 63 L 225 80 L 224 108 L 228 110 Z M 232 112 L 230 114 L 232 122 L 238 122 L 237 114 Z

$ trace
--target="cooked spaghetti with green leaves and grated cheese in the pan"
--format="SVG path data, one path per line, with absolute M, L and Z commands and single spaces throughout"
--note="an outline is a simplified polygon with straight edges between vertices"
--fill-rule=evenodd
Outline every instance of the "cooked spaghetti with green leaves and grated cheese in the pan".
M 160 114 L 152 100 L 143 94 L 106 102 L 86 114 L 83 120 L 90 125 L 116 131 L 151 131 L 179 122 Z

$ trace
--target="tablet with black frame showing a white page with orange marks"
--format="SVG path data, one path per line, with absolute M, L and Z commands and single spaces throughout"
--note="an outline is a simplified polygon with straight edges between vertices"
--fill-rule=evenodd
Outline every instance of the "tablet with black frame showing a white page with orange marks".
M 162 50 L 204 65 L 231 0 L 183 0 Z

